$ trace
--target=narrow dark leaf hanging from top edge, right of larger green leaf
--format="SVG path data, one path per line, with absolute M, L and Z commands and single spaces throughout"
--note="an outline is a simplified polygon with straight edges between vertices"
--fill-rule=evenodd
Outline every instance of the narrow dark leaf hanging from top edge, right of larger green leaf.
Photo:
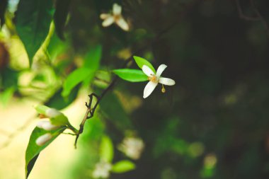
M 64 26 L 67 22 L 67 15 L 69 12 L 71 0 L 57 0 L 56 11 L 54 15 L 55 30 L 58 37 L 64 40 Z

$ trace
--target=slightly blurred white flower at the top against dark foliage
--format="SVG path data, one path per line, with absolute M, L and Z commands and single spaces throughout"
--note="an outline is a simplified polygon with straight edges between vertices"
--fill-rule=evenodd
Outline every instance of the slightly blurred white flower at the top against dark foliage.
M 116 23 L 122 30 L 128 31 L 129 25 L 122 17 L 122 7 L 118 4 L 113 4 L 112 13 L 101 13 L 100 18 L 103 19 L 103 27 Z

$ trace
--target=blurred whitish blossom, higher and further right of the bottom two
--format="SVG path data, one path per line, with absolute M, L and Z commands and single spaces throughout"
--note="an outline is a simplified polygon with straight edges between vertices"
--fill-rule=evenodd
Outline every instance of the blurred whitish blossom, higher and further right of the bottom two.
M 144 149 L 144 142 L 142 139 L 136 137 L 125 137 L 122 144 L 118 146 L 118 149 L 122 151 L 126 156 L 137 160 L 140 158 Z

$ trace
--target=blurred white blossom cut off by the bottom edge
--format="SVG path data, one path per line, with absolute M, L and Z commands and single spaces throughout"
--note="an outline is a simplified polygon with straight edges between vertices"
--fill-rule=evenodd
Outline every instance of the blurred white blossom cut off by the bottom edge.
M 99 161 L 96 163 L 96 167 L 93 170 L 93 178 L 108 178 L 112 165 L 106 161 Z

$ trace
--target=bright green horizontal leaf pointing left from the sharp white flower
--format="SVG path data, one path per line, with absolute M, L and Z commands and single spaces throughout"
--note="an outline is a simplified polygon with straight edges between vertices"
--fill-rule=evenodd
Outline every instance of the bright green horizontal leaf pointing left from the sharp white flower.
M 148 81 L 148 77 L 139 69 L 114 69 L 113 72 L 121 79 L 131 82 Z

